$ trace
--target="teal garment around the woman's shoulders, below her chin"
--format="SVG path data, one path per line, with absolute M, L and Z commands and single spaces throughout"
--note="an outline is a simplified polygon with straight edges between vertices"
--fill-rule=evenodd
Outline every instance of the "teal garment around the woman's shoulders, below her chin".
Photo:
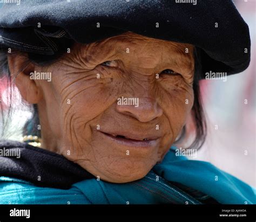
M 173 184 L 182 184 L 205 196 L 196 198 Z M 124 184 L 93 178 L 62 190 L 0 177 L 0 204 L 201 204 L 208 196 L 220 204 L 256 203 L 251 186 L 211 163 L 176 156 L 173 149 L 144 178 Z

